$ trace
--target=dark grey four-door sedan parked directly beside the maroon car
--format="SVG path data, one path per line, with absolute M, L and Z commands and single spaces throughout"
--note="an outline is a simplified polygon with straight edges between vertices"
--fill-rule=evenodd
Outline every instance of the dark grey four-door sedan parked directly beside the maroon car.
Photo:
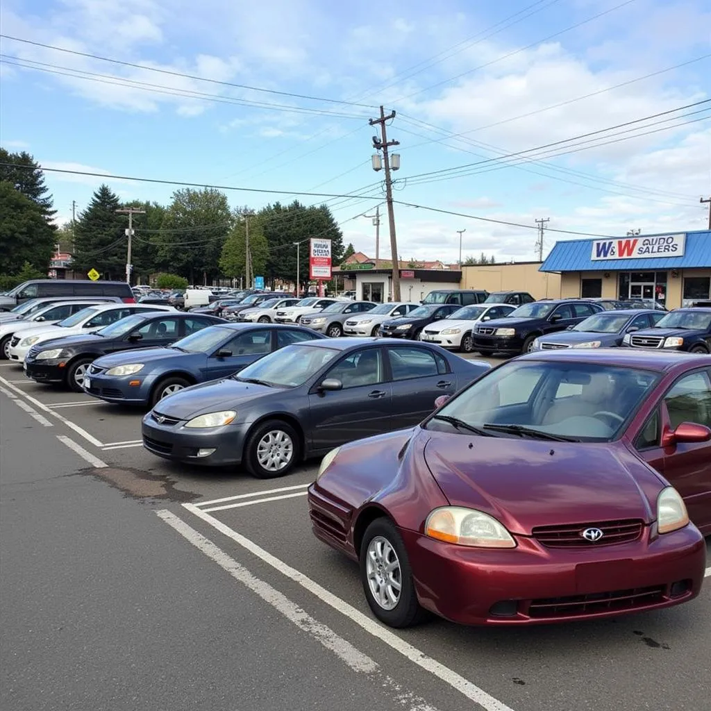
M 260 479 L 340 444 L 412 427 L 488 370 L 428 343 L 327 338 L 264 356 L 161 400 L 143 444 L 174 461 L 242 465 Z

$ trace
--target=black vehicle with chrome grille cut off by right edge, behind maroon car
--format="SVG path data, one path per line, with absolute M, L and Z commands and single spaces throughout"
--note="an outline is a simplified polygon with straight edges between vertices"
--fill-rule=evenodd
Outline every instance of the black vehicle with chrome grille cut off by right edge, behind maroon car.
M 670 311 L 657 321 L 653 328 L 628 333 L 622 345 L 631 348 L 711 353 L 711 309 L 695 306 Z

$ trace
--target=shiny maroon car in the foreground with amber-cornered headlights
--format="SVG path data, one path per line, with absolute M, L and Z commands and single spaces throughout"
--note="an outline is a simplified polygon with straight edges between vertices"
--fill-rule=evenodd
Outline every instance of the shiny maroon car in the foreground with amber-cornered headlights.
M 530 353 L 439 405 L 331 451 L 309 488 L 314 533 L 358 560 L 380 620 L 532 624 L 697 596 L 711 356 Z

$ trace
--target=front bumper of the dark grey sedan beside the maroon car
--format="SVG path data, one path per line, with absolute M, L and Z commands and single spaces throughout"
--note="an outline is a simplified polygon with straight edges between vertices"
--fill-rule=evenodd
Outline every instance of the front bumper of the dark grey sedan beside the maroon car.
M 149 412 L 143 418 L 143 446 L 156 456 L 203 466 L 239 465 L 249 423 L 228 424 L 210 429 L 186 429 L 184 421 L 160 424 Z M 198 451 L 214 450 L 206 456 Z

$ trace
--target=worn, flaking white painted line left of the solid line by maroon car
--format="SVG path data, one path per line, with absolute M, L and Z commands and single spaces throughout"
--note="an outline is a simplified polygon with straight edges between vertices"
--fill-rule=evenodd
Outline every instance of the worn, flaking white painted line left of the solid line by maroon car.
M 210 560 L 217 563 L 225 572 L 228 572 L 235 580 L 245 585 L 264 602 L 272 605 L 274 609 L 284 615 L 296 627 L 333 652 L 354 673 L 368 675 L 373 682 L 373 688 L 385 690 L 386 694 L 394 697 L 397 705 L 402 706 L 407 711 L 437 711 L 435 707 L 429 705 L 424 699 L 412 693 L 403 692 L 402 686 L 384 674 L 380 665 L 367 654 L 355 648 L 330 627 L 311 617 L 268 582 L 253 575 L 247 568 L 240 565 L 209 538 L 205 538 L 201 533 L 191 528 L 181 518 L 165 509 L 156 511 L 156 515 L 199 551 L 203 552 Z

